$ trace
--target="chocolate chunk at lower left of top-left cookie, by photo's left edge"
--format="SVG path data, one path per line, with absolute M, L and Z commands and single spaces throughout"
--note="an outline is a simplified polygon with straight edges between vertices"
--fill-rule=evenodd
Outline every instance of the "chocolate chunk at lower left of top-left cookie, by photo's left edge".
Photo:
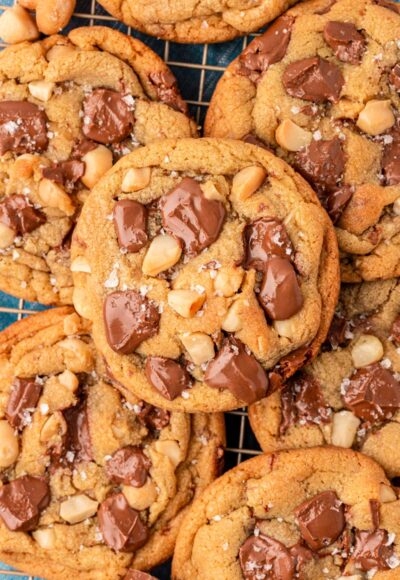
M 9 195 L 0 203 L 0 223 L 14 230 L 18 236 L 33 232 L 45 221 L 46 216 L 29 205 L 24 195 Z

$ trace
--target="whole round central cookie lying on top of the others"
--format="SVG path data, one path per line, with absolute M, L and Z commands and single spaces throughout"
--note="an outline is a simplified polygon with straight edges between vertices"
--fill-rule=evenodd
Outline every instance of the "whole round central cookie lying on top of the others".
M 89 196 L 74 303 L 117 380 L 157 406 L 238 408 L 324 340 L 338 291 L 332 224 L 286 163 L 240 141 L 165 141 Z

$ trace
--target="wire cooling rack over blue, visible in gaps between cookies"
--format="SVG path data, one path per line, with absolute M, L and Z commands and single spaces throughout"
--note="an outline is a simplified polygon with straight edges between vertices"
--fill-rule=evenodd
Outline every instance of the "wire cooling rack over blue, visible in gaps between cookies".
M 1 0 L 0 0 L 1 1 Z M 14 4 L 13 0 L 2 0 L 0 12 Z M 242 52 L 251 37 L 239 38 L 221 44 L 183 45 L 164 42 L 136 32 L 112 18 L 95 0 L 78 0 L 76 12 L 67 28 L 79 26 L 110 26 L 125 34 L 135 36 L 145 42 L 171 67 L 178 79 L 184 99 L 190 106 L 191 114 L 202 127 L 207 106 L 215 86 L 226 66 Z M 3 47 L 4 44 L 0 44 Z M 45 310 L 37 303 L 26 302 L 0 292 L 0 329 L 34 312 Z M 225 469 L 230 469 L 245 459 L 260 453 L 260 448 L 250 429 L 245 410 L 226 414 L 227 451 Z M 170 578 L 169 566 L 163 565 L 154 571 L 162 579 Z M 0 563 L 0 580 L 27 580 L 28 577 Z

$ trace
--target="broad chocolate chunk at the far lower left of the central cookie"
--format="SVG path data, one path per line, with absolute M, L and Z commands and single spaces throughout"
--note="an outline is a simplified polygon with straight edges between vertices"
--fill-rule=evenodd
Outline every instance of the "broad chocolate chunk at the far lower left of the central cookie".
M 115 352 L 130 354 L 158 332 L 157 307 L 135 290 L 109 294 L 103 315 L 108 344 Z

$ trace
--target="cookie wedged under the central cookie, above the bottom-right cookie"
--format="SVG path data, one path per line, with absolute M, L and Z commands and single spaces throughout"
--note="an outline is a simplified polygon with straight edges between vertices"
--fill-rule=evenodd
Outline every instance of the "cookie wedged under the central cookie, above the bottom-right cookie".
M 251 407 L 260 445 L 353 447 L 400 476 L 400 282 L 345 286 L 323 351 Z

